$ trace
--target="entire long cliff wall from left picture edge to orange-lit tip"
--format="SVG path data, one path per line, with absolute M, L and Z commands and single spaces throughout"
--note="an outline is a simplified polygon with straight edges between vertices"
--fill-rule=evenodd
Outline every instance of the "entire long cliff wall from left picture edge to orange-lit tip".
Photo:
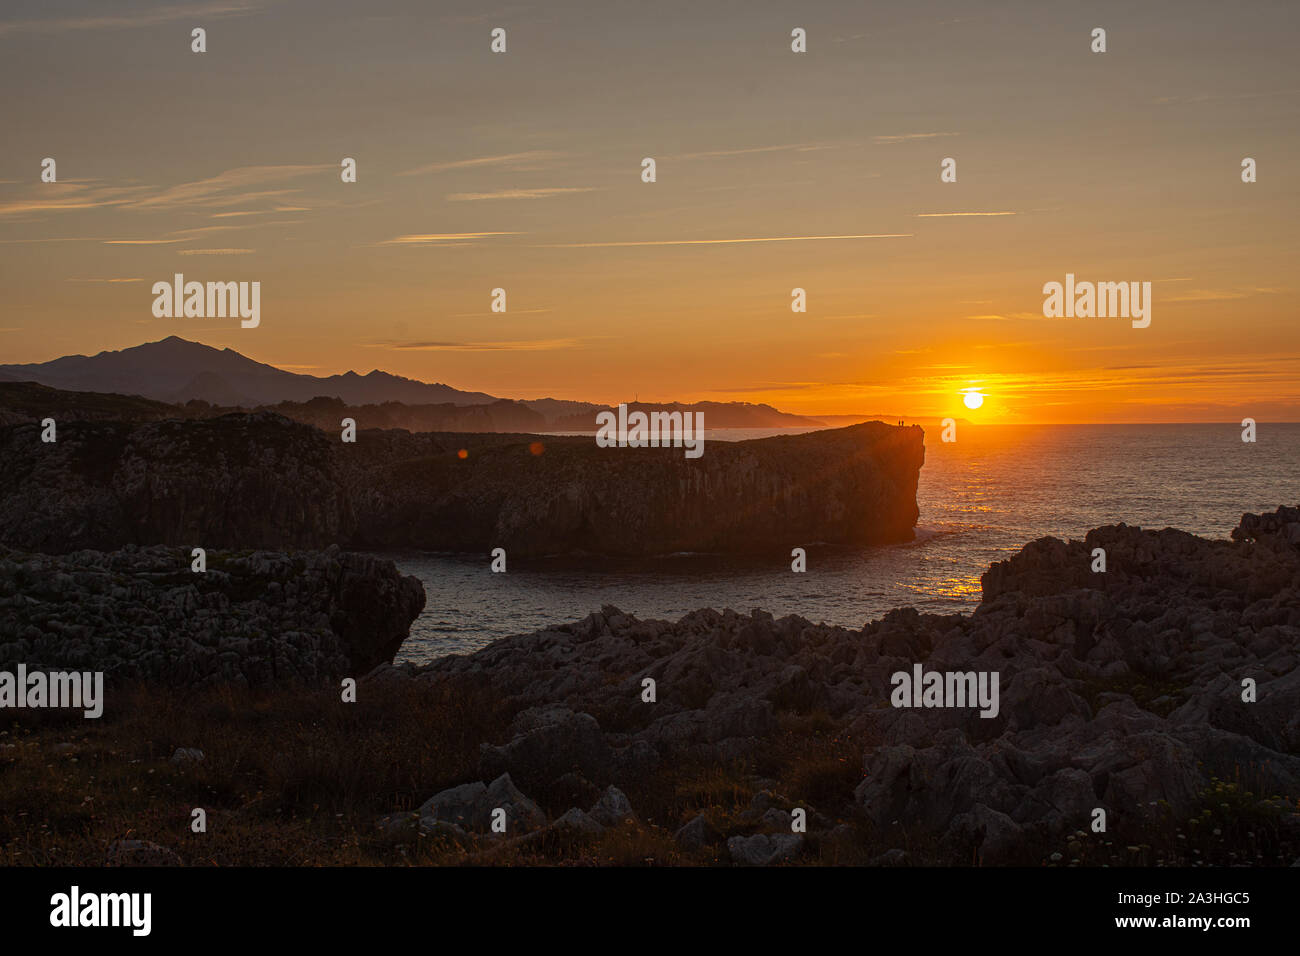
M 464 449 L 465 458 L 458 451 Z M 905 541 L 919 428 L 880 423 L 681 449 L 592 438 L 360 432 L 277 415 L 0 428 L 0 540 L 662 554 Z

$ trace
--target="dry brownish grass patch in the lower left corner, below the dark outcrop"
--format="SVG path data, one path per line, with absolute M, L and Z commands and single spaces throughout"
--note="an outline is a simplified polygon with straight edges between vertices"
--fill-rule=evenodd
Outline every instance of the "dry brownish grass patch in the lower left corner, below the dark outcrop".
M 0 724 L 0 862 L 99 865 L 146 839 L 190 864 L 400 862 L 374 817 L 474 775 L 507 708 L 469 685 L 363 685 L 274 696 L 135 688 L 98 721 L 6 711 Z M 204 752 L 173 765 L 178 747 Z M 190 830 L 203 808 L 208 831 Z

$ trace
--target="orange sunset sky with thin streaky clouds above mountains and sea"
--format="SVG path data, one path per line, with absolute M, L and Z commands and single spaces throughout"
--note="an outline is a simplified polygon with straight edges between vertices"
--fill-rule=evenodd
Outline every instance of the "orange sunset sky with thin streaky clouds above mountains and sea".
M 1300 419 L 1295 5 L 968 7 L 20 4 L 0 360 L 179 334 L 514 398 Z M 176 272 L 260 281 L 261 325 L 155 319 Z M 1152 282 L 1150 326 L 1044 319 L 1067 272 Z

